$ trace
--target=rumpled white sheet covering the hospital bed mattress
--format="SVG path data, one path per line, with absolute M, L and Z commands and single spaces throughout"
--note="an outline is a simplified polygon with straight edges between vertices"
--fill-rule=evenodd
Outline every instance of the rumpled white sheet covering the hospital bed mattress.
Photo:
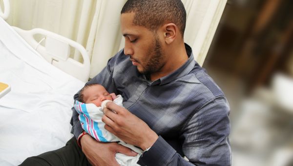
M 46 62 L 0 18 L 0 82 L 11 92 L 0 98 L 0 166 L 65 145 L 73 95 L 80 80 Z

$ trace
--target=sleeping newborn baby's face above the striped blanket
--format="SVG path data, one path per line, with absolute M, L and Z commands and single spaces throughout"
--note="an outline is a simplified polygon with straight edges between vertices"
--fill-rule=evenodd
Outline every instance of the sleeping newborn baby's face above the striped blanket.
M 106 91 L 105 87 L 102 85 L 92 85 L 84 89 L 84 102 L 86 104 L 92 103 L 96 106 L 101 106 L 104 100 L 112 100 L 109 92 Z

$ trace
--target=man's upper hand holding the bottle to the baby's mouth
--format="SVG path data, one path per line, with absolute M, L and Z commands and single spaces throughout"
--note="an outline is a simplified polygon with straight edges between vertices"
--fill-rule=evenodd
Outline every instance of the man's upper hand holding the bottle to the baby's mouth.
M 158 139 L 158 135 L 144 121 L 127 109 L 108 102 L 103 111 L 105 115 L 102 117 L 102 121 L 105 123 L 105 129 L 127 144 L 146 150 Z

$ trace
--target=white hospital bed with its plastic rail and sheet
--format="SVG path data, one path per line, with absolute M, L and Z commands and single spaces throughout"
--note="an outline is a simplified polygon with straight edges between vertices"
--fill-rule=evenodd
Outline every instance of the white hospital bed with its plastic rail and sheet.
M 73 95 L 88 80 L 90 63 L 77 42 L 43 29 L 24 31 L 1 17 L 0 82 L 11 91 L 0 98 L 0 166 L 16 166 L 73 136 Z M 36 34 L 42 34 L 41 41 Z M 71 47 L 81 52 L 83 63 L 69 58 Z

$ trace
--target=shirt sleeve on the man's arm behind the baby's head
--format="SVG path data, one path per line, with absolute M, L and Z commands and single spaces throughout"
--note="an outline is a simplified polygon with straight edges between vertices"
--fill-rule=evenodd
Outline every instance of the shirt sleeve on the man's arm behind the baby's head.
M 102 84 L 110 93 L 115 93 L 116 88 L 115 83 L 113 81 L 113 70 L 114 70 L 114 65 L 116 62 L 117 57 L 121 54 L 123 50 L 119 51 L 114 57 L 112 57 L 111 59 L 109 59 L 109 61 L 107 62 L 107 65 L 105 66 L 105 68 L 98 74 L 96 75 L 94 78 L 92 78 L 89 82 L 85 83 L 85 85 L 87 84 L 91 84 L 91 83 L 99 83 Z M 79 95 L 78 91 L 75 95 L 74 95 L 74 102 L 78 99 L 78 95 Z M 70 121 L 70 124 L 72 125 L 72 129 L 71 129 L 71 133 L 75 136 L 75 138 L 77 139 L 78 136 L 84 131 L 84 129 L 82 128 L 82 125 L 80 123 L 80 120 L 78 118 L 78 112 L 75 110 L 74 107 L 71 108 L 72 110 L 72 118 Z

